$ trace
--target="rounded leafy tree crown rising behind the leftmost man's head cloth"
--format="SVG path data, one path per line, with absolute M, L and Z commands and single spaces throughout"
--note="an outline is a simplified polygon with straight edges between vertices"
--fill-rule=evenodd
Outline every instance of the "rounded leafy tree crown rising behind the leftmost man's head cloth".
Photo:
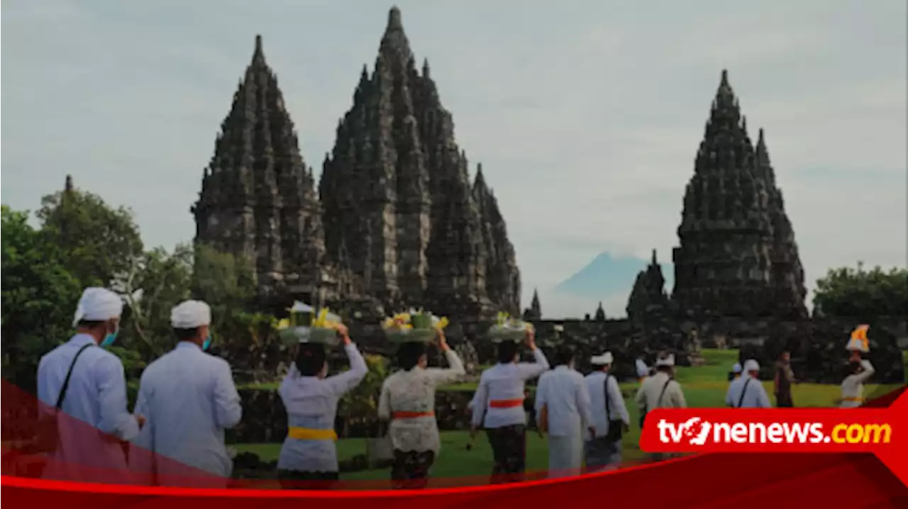
M 60 246 L 65 266 L 83 286 L 106 287 L 142 256 L 132 211 L 108 206 L 96 194 L 58 191 L 37 212 L 48 240 Z

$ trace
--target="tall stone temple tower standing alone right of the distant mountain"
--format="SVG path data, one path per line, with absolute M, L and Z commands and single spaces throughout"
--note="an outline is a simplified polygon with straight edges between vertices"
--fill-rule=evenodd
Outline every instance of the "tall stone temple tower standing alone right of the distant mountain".
M 755 148 L 725 71 L 681 216 L 672 293 L 681 312 L 806 314 L 804 272 L 762 131 Z

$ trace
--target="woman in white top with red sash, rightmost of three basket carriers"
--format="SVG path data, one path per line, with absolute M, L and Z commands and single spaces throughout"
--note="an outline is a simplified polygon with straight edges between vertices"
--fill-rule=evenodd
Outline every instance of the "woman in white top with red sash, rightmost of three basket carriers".
M 532 330 L 527 331 L 527 346 L 536 362 L 518 362 L 516 341 L 499 343 L 498 364 L 482 372 L 470 403 L 470 437 L 476 436 L 477 427 L 485 427 L 495 457 L 491 484 L 523 480 L 527 461 L 525 383 L 548 370 L 548 360 L 536 347 Z

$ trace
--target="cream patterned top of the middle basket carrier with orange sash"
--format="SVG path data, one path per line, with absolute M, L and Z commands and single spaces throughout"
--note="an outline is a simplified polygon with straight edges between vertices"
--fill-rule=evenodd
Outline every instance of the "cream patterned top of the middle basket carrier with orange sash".
M 454 350 L 447 350 L 448 369 L 413 367 L 385 378 L 379 397 L 379 418 L 390 420 L 391 446 L 402 452 L 428 452 L 441 449 L 435 416 L 391 419 L 394 412 L 434 412 L 435 387 L 454 382 L 466 374 Z

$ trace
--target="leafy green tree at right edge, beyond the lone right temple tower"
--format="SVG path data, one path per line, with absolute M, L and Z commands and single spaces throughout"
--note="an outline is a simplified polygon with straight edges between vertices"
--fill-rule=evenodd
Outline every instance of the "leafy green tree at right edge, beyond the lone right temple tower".
M 816 281 L 814 314 L 869 320 L 908 314 L 908 269 L 829 269 Z

